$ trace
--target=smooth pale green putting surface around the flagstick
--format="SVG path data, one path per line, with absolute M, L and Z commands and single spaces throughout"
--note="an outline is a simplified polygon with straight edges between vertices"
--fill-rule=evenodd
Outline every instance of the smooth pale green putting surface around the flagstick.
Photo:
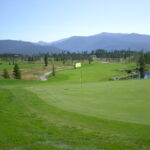
M 139 124 L 150 124 L 150 80 L 30 87 L 47 104 L 63 110 Z

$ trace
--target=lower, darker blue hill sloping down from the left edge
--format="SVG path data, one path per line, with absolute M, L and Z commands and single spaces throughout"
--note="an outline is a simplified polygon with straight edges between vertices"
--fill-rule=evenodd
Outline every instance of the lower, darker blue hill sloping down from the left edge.
M 16 40 L 0 40 L 0 54 L 39 54 L 39 53 L 59 53 L 62 50 L 53 46 L 37 45 L 31 42 Z

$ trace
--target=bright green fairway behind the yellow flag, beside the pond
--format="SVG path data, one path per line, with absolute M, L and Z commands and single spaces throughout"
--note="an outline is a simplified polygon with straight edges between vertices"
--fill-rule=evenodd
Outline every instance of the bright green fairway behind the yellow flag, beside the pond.
M 107 81 L 111 77 L 126 74 L 124 69 L 134 68 L 134 64 L 83 64 L 82 68 L 60 71 L 56 78 L 50 77 L 49 82 L 72 82 L 79 83 L 82 75 L 82 82 Z

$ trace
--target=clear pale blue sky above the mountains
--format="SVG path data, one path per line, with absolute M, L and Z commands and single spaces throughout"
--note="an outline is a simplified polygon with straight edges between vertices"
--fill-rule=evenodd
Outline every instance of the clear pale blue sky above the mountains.
M 0 39 L 150 34 L 150 0 L 0 0 Z

